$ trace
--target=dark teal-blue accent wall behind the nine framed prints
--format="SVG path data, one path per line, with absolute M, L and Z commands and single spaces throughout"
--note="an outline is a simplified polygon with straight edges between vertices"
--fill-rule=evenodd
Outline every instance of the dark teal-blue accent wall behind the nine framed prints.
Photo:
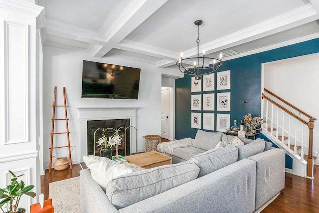
M 231 92 L 231 111 L 215 113 L 215 123 L 217 113 L 230 114 L 230 126 L 236 119 L 240 121 L 247 113 L 253 115 L 261 114 L 261 64 L 276 60 L 282 60 L 302 55 L 308 55 L 319 52 L 319 38 L 248 55 L 241 58 L 224 61 L 222 67 L 218 70 L 231 70 L 231 89 L 218 90 L 218 92 Z M 175 138 L 194 138 L 197 129 L 191 128 L 191 112 L 207 113 L 207 111 L 191 111 L 191 95 L 217 93 L 216 91 L 216 74 L 215 74 L 215 91 L 191 93 L 191 76 L 185 75 L 184 78 L 176 79 L 176 99 L 175 99 Z M 215 95 L 216 99 L 216 95 Z M 247 99 L 247 103 L 243 100 Z M 215 100 L 216 109 L 216 100 Z M 238 122 L 239 123 L 239 122 Z M 216 129 L 216 124 L 215 124 Z M 270 141 L 264 135 L 258 137 Z M 286 155 L 286 168 L 292 169 L 292 159 Z

